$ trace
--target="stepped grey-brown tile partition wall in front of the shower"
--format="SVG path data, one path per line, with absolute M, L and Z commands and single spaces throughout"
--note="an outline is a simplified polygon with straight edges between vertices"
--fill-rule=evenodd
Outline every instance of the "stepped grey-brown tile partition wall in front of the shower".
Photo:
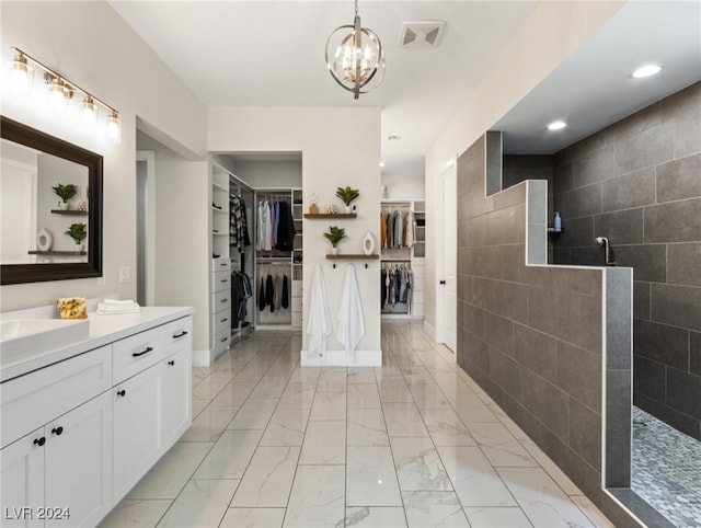
M 635 526 L 601 490 L 605 377 L 607 452 L 618 455 L 607 456 L 607 485 L 630 483 L 630 272 L 527 266 L 529 227 L 542 231 L 542 244 L 529 237 L 528 251 L 547 253 L 545 185 L 520 183 L 485 198 L 486 150 L 482 137 L 457 167 L 458 364 L 616 526 Z M 604 280 L 623 305 L 628 288 L 628 312 L 620 311 L 628 320 L 607 319 L 606 329 Z M 614 354 L 607 357 L 609 325 Z

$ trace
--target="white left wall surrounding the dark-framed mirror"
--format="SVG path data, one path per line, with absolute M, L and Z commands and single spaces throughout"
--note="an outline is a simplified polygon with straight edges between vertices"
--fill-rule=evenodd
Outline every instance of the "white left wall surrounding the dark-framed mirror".
M 112 144 L 2 91 L 3 115 L 104 156 L 104 284 L 87 278 L 2 286 L 0 310 L 53 305 L 71 295 L 135 298 L 136 280 L 117 279 L 122 266 L 136 273 L 137 116 L 204 159 L 206 108 L 106 2 L 2 1 L 0 10 L 3 72 L 16 46 L 116 107 L 122 120 L 122 142 Z

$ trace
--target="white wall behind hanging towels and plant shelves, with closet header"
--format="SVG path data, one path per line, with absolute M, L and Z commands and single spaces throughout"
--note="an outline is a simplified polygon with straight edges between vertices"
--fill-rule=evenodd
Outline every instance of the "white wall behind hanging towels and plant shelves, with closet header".
M 334 334 L 329 349 L 342 347 L 335 340 L 336 314 L 342 295 L 345 264 L 332 268 L 325 259 L 330 244 L 322 232 L 331 223 L 346 228 L 348 238 L 340 243 L 342 252 L 361 253 L 363 238 L 369 231 L 379 239 L 380 215 L 380 110 L 320 107 L 210 107 L 208 147 L 212 151 L 302 152 L 302 188 L 307 197 L 315 192 L 321 206 L 341 205 L 334 197 L 338 186 L 353 185 L 360 191 L 355 202 L 358 218 L 354 220 L 304 220 L 303 280 L 306 324 L 313 269 L 323 266 Z M 349 152 L 353 156 L 349 156 Z M 307 198 L 304 198 L 307 199 Z M 379 262 L 355 262 L 365 309 L 366 333 L 358 351 L 380 351 Z M 302 348 L 308 344 L 303 335 Z

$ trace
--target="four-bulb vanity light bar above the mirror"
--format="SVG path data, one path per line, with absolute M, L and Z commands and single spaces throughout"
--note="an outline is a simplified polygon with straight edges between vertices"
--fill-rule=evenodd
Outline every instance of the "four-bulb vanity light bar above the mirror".
M 57 73 L 49 67 L 36 60 L 31 55 L 21 50 L 18 47 L 12 47 L 14 51 L 14 58 L 10 62 L 12 67 L 12 83 L 18 89 L 31 88 L 33 80 L 33 68 L 39 68 L 44 71 L 44 83 L 46 84 L 49 93 L 51 106 L 55 108 L 64 108 L 73 99 L 76 93 L 83 96 L 81 105 L 81 119 L 85 127 L 91 128 L 95 125 L 99 118 L 99 106 L 102 106 L 106 112 L 106 133 L 107 137 L 115 142 L 122 140 L 122 124 L 119 123 L 119 113 L 106 104 L 104 101 L 95 97 L 92 93 L 83 90 L 74 82 L 69 81 L 64 76 Z

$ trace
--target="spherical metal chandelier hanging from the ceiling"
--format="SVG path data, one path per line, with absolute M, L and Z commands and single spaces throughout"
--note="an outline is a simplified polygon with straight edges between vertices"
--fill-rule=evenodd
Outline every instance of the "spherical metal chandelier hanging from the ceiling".
M 326 41 L 326 67 L 341 88 L 354 99 L 377 88 L 384 77 L 384 54 L 377 34 L 363 27 L 355 0 L 353 25 L 336 27 Z

